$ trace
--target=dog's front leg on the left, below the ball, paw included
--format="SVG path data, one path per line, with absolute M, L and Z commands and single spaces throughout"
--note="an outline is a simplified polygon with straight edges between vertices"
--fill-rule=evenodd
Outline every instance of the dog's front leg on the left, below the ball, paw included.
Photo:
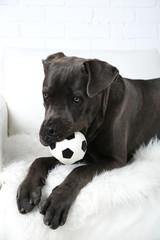
M 30 212 L 41 200 L 41 190 L 45 185 L 48 171 L 59 162 L 53 158 L 37 158 L 17 191 L 17 205 L 21 213 Z

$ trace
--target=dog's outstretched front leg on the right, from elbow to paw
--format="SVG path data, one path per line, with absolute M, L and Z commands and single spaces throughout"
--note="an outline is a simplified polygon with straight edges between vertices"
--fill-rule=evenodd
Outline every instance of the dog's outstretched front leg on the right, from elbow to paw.
M 92 163 L 75 168 L 66 179 L 57 186 L 44 205 L 41 213 L 44 215 L 44 223 L 52 229 L 62 226 L 67 219 L 68 211 L 79 191 L 89 183 L 93 177 L 104 170 L 121 167 L 123 164 L 113 159 Z

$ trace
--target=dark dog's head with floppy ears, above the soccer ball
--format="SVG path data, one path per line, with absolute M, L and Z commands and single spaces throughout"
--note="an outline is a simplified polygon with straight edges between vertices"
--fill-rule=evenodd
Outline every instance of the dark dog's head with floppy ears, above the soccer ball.
M 43 145 L 62 141 L 73 132 L 87 135 L 106 102 L 102 92 L 115 80 L 118 70 L 93 59 L 66 57 L 63 53 L 43 60 L 45 118 L 40 129 Z M 105 99 L 105 100 L 104 100 Z

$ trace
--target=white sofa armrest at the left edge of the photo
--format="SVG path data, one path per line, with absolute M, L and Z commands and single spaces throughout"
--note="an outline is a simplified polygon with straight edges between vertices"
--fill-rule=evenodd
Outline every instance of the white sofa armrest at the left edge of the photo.
M 8 135 L 8 111 L 5 99 L 0 96 L 0 170 L 4 163 L 4 142 Z

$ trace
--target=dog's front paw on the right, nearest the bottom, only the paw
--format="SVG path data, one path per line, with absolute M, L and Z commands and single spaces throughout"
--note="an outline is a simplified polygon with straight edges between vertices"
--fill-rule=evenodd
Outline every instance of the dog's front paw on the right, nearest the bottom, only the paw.
M 56 187 L 41 207 L 44 223 L 51 229 L 64 225 L 72 202 L 73 196 L 71 192 L 60 186 Z

